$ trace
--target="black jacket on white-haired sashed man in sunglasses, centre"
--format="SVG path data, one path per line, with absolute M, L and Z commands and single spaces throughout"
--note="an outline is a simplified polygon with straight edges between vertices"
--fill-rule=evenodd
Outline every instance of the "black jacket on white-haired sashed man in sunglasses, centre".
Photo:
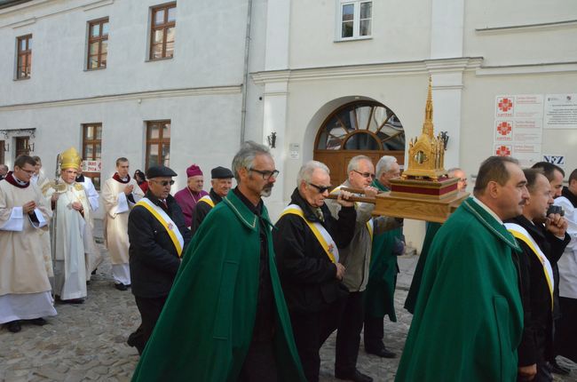
M 297 204 L 306 219 L 319 222 L 298 189 L 291 196 L 291 204 Z M 328 207 L 321 207 L 325 221 L 321 223 L 335 240 L 338 248 L 346 247 L 354 234 L 357 212 L 354 207 L 343 208 L 334 219 Z M 282 290 L 289 310 L 319 312 L 337 298 L 348 294 L 347 289 L 336 279 L 336 265 L 322 249 L 315 235 L 299 216 L 287 214 L 273 229 L 273 245 L 276 254 Z

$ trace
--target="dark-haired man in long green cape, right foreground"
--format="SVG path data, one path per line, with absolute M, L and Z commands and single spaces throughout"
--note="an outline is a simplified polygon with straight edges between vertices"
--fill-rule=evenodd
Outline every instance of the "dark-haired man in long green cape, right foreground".
M 486 382 L 517 378 L 523 330 L 518 252 L 503 219 L 528 198 L 516 160 L 491 156 L 474 197 L 439 229 L 423 271 L 398 382 Z

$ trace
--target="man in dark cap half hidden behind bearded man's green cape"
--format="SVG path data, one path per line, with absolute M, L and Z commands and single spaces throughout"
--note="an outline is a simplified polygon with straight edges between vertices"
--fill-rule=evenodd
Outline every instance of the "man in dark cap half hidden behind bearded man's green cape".
M 210 188 L 209 195 L 202 196 L 201 200 L 196 203 L 196 207 L 193 212 L 193 222 L 190 227 L 191 232 L 194 232 L 201 226 L 202 220 L 206 218 L 210 210 L 214 208 L 215 205 L 222 202 L 223 197 L 228 195 L 228 192 L 233 187 L 233 171 L 226 169 L 225 167 L 215 167 L 210 171 Z

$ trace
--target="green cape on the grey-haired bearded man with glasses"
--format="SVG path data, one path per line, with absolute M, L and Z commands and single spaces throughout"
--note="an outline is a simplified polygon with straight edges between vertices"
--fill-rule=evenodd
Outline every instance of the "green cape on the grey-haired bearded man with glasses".
M 263 218 L 272 226 L 268 212 Z M 133 381 L 236 381 L 257 312 L 257 216 L 231 191 L 194 235 Z M 280 381 L 305 381 L 268 236 Z

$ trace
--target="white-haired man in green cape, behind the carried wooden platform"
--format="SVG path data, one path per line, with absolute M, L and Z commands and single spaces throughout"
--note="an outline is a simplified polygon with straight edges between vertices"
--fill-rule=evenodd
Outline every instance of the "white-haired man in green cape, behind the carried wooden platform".
M 372 186 L 379 191 L 391 191 L 393 178 L 399 178 L 397 158 L 385 155 L 376 163 L 376 179 Z M 397 322 L 394 295 L 399 266 L 397 256 L 405 250 L 402 228 L 395 228 L 375 235 L 367 290 L 365 290 L 365 351 L 383 358 L 394 358 L 396 354 L 384 346 L 384 316 Z

